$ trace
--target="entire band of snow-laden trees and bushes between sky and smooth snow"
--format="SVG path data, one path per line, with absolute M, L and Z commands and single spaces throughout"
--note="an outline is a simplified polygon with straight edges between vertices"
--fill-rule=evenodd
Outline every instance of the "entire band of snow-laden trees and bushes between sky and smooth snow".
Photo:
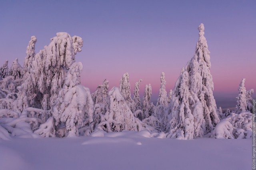
M 245 90 L 243 79 L 234 113 L 217 109 L 204 25 L 198 30 L 194 57 L 182 68 L 169 94 L 161 73 L 156 106 L 151 102 L 150 84 L 140 100 L 142 80 L 135 83 L 132 98 L 128 73 L 119 88 L 109 90 L 106 79 L 93 93 L 82 86 L 83 65 L 75 61 L 83 46 L 81 37 L 57 33 L 36 54 L 37 39 L 32 36 L 24 66 L 16 59 L 10 69 L 8 61 L 0 68 L 0 138 L 95 136 L 123 130 L 147 130 L 152 136 L 175 139 L 250 137 L 252 114 L 248 111 L 252 111 L 254 91 Z

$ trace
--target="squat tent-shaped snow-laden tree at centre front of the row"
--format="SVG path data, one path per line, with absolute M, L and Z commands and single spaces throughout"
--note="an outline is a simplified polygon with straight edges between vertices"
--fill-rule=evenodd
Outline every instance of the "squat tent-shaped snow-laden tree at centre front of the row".
M 120 132 L 123 130 L 141 131 L 145 129 L 146 125 L 134 117 L 118 88 L 113 87 L 108 95 L 110 102 L 107 111 L 104 114 L 100 113 L 98 122 L 95 122 L 97 130 Z

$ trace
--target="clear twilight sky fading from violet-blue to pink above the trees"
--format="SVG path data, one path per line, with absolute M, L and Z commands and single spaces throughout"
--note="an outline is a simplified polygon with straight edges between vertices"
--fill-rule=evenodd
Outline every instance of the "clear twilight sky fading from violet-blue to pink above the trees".
M 255 0 L 0 0 L 0 66 L 16 57 L 23 66 L 32 35 L 39 52 L 57 32 L 68 32 L 84 40 L 76 61 L 84 65 L 82 84 L 91 92 L 104 78 L 110 88 L 118 86 L 128 72 L 132 93 L 142 79 L 140 91 L 150 83 L 155 102 L 161 72 L 169 92 L 194 56 L 204 23 L 217 106 L 232 107 L 242 78 L 256 91 L 255 9 Z

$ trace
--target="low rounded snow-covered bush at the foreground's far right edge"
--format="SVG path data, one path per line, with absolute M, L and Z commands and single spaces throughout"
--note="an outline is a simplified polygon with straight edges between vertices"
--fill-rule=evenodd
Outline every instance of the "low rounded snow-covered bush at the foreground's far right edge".
M 211 136 L 216 139 L 244 139 L 252 137 L 252 113 L 231 113 L 220 121 Z

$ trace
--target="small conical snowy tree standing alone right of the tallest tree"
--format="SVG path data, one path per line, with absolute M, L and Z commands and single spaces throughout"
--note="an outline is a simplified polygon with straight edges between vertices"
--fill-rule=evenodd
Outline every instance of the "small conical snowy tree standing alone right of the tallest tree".
M 243 113 L 247 109 L 247 101 L 246 101 L 246 89 L 244 87 L 245 78 L 242 79 L 240 85 L 238 87 L 238 97 L 236 98 L 236 110 L 235 113 Z

